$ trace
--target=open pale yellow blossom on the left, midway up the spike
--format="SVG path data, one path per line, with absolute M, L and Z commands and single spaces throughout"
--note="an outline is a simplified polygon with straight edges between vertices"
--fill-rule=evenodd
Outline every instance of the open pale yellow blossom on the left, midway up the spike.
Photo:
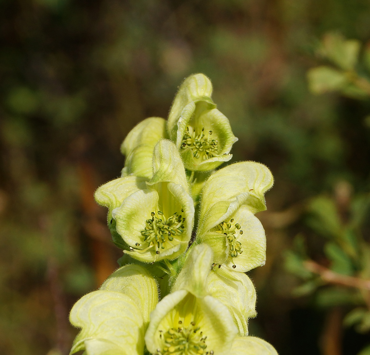
M 172 142 L 162 139 L 155 145 L 152 169 L 153 176 L 147 182 L 138 182 L 134 176 L 121 177 L 95 193 L 97 202 L 111 212 L 108 223 L 115 222 L 115 230 L 127 244 L 124 252 L 144 262 L 181 255 L 194 224 L 184 165 Z M 126 188 L 128 181 L 131 190 Z

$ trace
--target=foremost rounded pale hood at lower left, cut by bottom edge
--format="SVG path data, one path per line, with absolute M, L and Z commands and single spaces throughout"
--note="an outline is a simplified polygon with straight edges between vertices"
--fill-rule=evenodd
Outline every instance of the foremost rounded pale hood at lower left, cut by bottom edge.
M 82 328 L 70 354 L 80 350 L 86 350 L 87 355 L 143 354 L 142 313 L 137 303 L 123 293 L 94 291 L 83 296 L 74 304 L 70 322 Z

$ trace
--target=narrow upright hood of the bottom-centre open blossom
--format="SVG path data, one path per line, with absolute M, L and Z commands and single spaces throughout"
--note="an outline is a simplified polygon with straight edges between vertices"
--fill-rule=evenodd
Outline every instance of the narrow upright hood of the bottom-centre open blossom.
M 191 248 L 184 267 L 178 275 L 173 291 L 186 290 L 196 297 L 209 294 L 207 277 L 213 259 L 212 249 L 207 244 L 199 244 Z

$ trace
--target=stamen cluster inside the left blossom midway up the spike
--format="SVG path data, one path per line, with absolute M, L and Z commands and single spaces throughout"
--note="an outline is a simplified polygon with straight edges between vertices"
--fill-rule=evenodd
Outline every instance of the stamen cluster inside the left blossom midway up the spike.
M 181 210 L 184 212 L 184 210 Z M 177 212 L 166 219 L 162 211 L 158 211 L 157 215 L 152 212 L 152 218 L 147 219 L 147 226 L 140 233 L 144 237 L 144 243 L 148 243 L 149 247 L 154 247 L 157 254 L 161 249 L 165 248 L 165 243 L 171 243 L 176 236 L 184 232 L 185 217 Z

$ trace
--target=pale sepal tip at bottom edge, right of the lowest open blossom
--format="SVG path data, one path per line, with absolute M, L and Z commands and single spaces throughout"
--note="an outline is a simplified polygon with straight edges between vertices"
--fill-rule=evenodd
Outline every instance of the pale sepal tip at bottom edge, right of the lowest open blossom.
M 229 355 L 277 355 L 275 348 L 257 337 L 236 337 Z

